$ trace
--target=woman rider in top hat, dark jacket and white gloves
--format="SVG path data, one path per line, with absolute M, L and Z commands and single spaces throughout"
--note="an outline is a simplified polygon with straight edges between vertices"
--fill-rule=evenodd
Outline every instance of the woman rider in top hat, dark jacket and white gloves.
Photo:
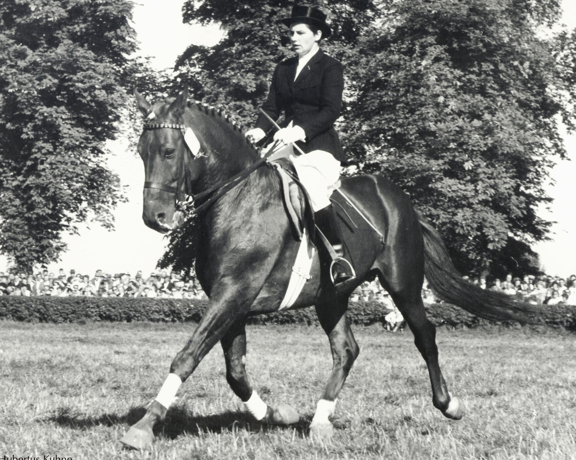
M 274 140 L 285 144 L 296 143 L 306 154 L 312 152 L 306 155 L 306 159 L 297 157 L 293 160 L 299 175 L 302 176 L 299 163 L 302 168 L 316 163 L 316 174 L 320 180 L 312 182 L 326 183 L 322 179 L 330 176 L 333 180 L 330 179 L 327 185 L 333 185 L 338 180 L 340 163 L 347 164 L 334 129 L 334 122 L 342 107 L 344 78 L 342 64 L 334 57 L 325 55 L 319 47 L 320 40 L 332 32 L 325 20 L 326 15 L 316 7 L 299 5 L 294 5 L 291 16 L 282 20 L 290 28 L 292 45 L 298 56 L 276 66 L 270 93 L 262 109 L 272 120 L 278 120 L 280 113 L 285 112 L 284 127 L 275 133 Z M 260 114 L 255 128 L 248 131 L 246 136 L 258 142 L 272 129 L 274 125 Z M 334 173 L 335 167 L 336 175 L 329 174 L 329 171 Z M 316 200 L 312 197 L 314 218 L 336 254 L 344 258 L 342 235 L 336 212 L 328 200 L 327 185 L 323 185 L 324 197 Z M 335 285 L 353 277 L 346 262 L 336 262 L 332 266 L 332 275 Z

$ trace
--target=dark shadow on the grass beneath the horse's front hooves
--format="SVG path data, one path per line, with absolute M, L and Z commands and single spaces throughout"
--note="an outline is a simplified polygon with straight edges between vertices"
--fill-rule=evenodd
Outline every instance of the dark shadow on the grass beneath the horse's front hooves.
M 132 408 L 126 415 L 118 416 L 116 414 L 104 414 L 98 417 L 86 417 L 81 414 L 74 414 L 69 408 L 60 408 L 54 415 L 39 421 L 51 421 L 62 427 L 71 428 L 73 430 L 86 430 L 94 426 L 112 427 L 113 425 L 133 425 L 140 420 L 146 409 Z M 263 425 L 251 419 L 251 417 L 242 412 L 223 412 L 221 414 L 208 415 L 208 416 L 195 416 L 192 413 L 185 411 L 181 408 L 172 408 L 168 410 L 164 423 L 158 423 L 154 427 L 154 435 L 162 436 L 168 439 L 175 439 L 177 436 L 183 434 L 191 434 L 197 436 L 199 433 L 215 432 L 225 433 L 233 431 L 262 431 L 267 432 L 271 430 L 296 430 L 297 434 L 308 435 L 309 425 L 312 417 L 300 417 L 298 423 L 289 425 L 288 427 L 272 427 L 270 425 Z

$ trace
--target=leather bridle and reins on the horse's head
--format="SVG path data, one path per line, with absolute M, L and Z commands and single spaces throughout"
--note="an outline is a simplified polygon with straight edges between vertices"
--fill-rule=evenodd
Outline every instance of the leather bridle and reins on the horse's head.
M 184 133 L 186 132 L 186 129 L 187 129 L 185 127 L 185 125 L 172 124 L 172 123 L 145 123 L 144 124 L 144 129 L 161 129 L 161 128 L 179 129 L 183 136 L 184 136 Z M 177 186 L 175 187 L 175 186 L 170 185 L 168 183 L 144 182 L 144 188 L 145 189 L 164 190 L 164 191 L 167 191 L 168 193 L 175 194 L 176 195 L 176 207 L 179 208 L 180 210 L 182 210 L 187 216 L 190 216 L 191 212 L 198 213 L 198 212 L 206 209 L 214 201 L 218 200 L 218 198 L 220 198 L 221 196 L 226 194 L 230 189 L 232 189 L 234 186 L 236 186 L 238 183 L 240 183 L 243 179 L 247 178 L 250 174 L 252 174 L 253 171 L 255 171 L 260 165 L 262 165 L 262 163 L 266 162 L 268 157 L 270 155 L 272 155 L 272 153 L 274 153 L 274 148 L 276 147 L 276 144 L 278 144 L 278 143 L 279 143 L 279 141 L 276 141 L 274 143 L 274 145 L 272 145 L 272 148 L 270 149 L 270 151 L 265 156 L 263 156 L 259 160 L 256 160 L 256 162 L 252 163 L 250 166 L 248 166 L 247 168 L 240 171 L 240 173 L 235 174 L 232 177 L 225 179 L 224 181 L 220 181 L 220 182 L 216 183 L 215 185 L 211 186 L 209 189 L 203 190 L 200 193 L 193 195 L 192 193 L 189 192 L 191 189 L 191 181 L 190 181 L 190 176 L 189 176 L 189 171 L 188 171 L 188 166 L 189 166 L 188 155 L 190 152 L 190 148 L 188 148 L 187 143 L 184 141 L 184 144 L 187 146 L 187 148 L 186 148 L 185 154 L 183 155 L 183 161 L 180 163 L 180 167 L 184 169 L 184 171 L 183 171 L 184 174 L 182 174 L 180 172 L 179 177 L 178 177 Z M 258 152 L 260 153 L 260 151 L 262 151 L 262 147 L 260 148 L 260 150 Z M 183 181 L 184 181 L 184 194 L 183 194 L 183 196 L 179 196 Z M 217 191 L 219 189 L 221 189 L 221 190 L 218 191 L 218 193 L 214 194 L 214 196 L 208 198 L 208 200 L 204 201 L 201 205 L 195 206 L 196 201 L 202 200 L 202 198 L 209 196 L 211 193 L 214 193 L 215 191 Z M 194 208 L 194 209 L 190 210 L 190 208 Z

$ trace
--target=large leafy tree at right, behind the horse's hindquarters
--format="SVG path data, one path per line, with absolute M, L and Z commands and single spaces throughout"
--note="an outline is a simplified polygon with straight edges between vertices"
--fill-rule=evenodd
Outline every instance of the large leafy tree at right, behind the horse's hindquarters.
M 537 34 L 559 12 L 554 1 L 400 2 L 351 56 L 349 151 L 410 194 L 462 271 L 525 273 L 529 244 L 546 238 L 536 209 L 550 202 L 551 157 L 565 154 L 557 116 L 574 120 L 558 59 L 574 41 Z

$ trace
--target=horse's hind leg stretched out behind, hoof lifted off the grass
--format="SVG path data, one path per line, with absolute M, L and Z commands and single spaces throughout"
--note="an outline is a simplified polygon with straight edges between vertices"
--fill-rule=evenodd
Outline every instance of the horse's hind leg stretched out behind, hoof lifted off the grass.
M 384 285 L 385 280 L 380 280 Z M 413 291 L 413 292 L 412 292 Z M 412 288 L 404 292 L 391 292 L 392 299 L 414 333 L 414 343 L 426 361 L 432 386 L 432 403 L 445 417 L 460 420 L 465 413 L 464 403 L 450 396 L 448 386 L 438 363 L 436 328 L 426 317 L 420 289 Z

